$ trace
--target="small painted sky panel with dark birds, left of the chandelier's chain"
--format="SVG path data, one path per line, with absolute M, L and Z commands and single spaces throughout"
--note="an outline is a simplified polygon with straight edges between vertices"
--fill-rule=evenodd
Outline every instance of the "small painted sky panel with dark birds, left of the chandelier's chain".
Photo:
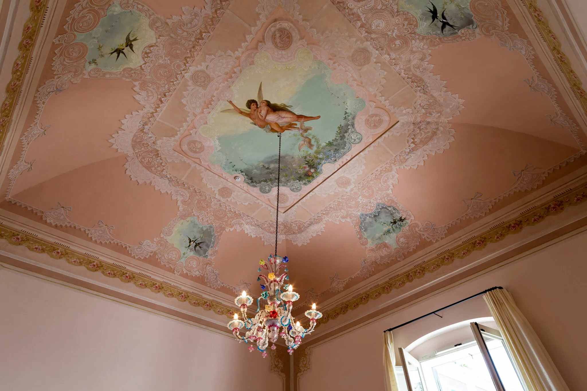
M 190 256 L 207 258 L 216 240 L 214 226 L 201 225 L 196 217 L 180 220 L 171 231 L 165 239 L 181 251 L 180 262 Z

